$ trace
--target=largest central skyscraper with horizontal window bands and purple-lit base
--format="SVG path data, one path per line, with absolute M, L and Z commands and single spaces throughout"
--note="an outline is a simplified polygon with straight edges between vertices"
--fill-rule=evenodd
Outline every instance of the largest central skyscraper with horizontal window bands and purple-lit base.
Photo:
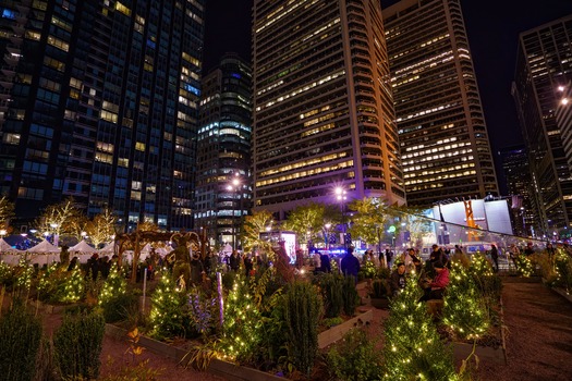
M 253 9 L 254 207 L 403 204 L 379 1 L 263 1 Z

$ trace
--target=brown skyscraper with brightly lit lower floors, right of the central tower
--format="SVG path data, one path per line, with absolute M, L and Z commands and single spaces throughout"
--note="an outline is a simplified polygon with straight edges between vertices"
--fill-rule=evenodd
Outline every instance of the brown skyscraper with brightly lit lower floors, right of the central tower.
M 459 0 L 384 10 L 409 205 L 498 195 Z

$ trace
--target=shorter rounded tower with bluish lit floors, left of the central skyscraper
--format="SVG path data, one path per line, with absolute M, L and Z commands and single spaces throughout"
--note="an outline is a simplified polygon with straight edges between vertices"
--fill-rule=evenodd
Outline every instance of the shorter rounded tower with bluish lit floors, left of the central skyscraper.
M 202 85 L 195 226 L 218 243 L 236 245 L 252 194 L 251 66 L 236 54 L 226 54 Z

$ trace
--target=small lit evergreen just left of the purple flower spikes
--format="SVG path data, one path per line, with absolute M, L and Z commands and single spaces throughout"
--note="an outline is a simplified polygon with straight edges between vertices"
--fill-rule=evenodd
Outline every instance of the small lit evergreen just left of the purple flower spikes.
M 163 274 L 151 296 L 150 322 L 156 337 L 185 335 L 186 294 L 179 291 L 170 274 Z

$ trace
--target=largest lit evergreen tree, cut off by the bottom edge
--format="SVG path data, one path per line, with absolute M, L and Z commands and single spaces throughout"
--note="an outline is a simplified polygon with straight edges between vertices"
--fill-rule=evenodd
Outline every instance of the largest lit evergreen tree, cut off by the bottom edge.
M 385 327 L 385 379 L 458 380 L 452 352 L 439 337 L 425 303 L 418 302 L 421 295 L 415 278 L 409 278 L 391 300 Z

